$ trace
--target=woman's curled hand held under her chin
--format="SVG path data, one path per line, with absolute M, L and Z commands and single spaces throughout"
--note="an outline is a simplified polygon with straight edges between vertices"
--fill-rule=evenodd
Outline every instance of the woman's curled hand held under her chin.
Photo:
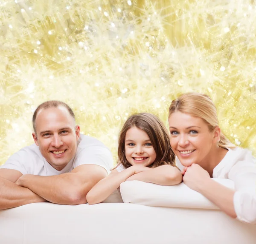
M 209 173 L 198 164 L 192 164 L 187 167 L 183 176 L 183 182 L 189 188 L 198 192 L 200 192 L 201 186 L 204 186 L 209 179 L 211 179 Z

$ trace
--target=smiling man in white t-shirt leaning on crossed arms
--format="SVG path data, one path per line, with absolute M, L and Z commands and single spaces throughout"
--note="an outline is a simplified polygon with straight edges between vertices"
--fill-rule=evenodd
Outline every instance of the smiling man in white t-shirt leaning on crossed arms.
M 35 144 L 0 167 L 0 210 L 34 202 L 86 203 L 86 194 L 113 166 L 102 142 L 80 134 L 71 108 L 60 101 L 38 106 L 33 115 Z

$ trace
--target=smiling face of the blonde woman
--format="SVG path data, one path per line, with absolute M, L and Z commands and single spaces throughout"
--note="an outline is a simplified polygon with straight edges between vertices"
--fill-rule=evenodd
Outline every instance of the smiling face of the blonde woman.
M 203 119 L 179 111 L 169 117 L 169 130 L 172 150 L 183 166 L 204 165 L 218 141 L 215 130 L 210 132 Z

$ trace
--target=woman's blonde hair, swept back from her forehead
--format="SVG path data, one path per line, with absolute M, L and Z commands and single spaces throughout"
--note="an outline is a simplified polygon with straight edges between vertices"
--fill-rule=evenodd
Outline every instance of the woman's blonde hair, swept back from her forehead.
M 217 111 L 212 99 L 206 94 L 189 92 L 182 94 L 177 99 L 173 100 L 169 108 L 169 117 L 172 113 L 180 111 L 191 116 L 199 117 L 206 122 L 209 131 L 212 132 L 218 126 Z M 221 132 L 221 137 L 218 142 L 221 148 L 235 148 L 229 139 Z

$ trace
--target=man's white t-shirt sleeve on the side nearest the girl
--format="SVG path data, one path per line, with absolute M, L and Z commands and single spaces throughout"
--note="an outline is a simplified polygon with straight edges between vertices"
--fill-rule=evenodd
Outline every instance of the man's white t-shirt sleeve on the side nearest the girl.
M 113 167 L 111 151 L 103 146 L 89 146 L 77 153 L 74 168 L 79 165 L 99 165 L 109 173 Z

